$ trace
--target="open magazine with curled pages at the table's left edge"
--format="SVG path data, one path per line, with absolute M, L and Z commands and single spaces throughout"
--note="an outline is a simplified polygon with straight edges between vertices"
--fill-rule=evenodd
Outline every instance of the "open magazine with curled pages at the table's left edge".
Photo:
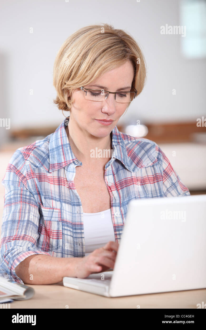
M 33 288 L 0 276 L 0 303 L 5 300 L 27 300 L 33 297 Z

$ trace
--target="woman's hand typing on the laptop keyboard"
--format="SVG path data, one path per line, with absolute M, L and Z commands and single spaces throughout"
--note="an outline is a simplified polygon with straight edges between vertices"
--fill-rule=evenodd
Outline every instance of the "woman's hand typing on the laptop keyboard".
M 105 272 L 109 268 L 114 268 L 119 244 L 108 242 L 103 248 L 98 248 L 84 258 L 77 258 L 75 267 L 76 277 L 86 278 L 90 274 Z

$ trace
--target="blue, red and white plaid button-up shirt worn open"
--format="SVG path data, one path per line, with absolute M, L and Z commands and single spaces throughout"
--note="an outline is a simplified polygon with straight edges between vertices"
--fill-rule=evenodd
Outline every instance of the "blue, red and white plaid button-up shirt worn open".
M 0 276 L 23 284 L 15 267 L 32 254 L 84 257 L 83 209 L 75 189 L 73 154 L 65 131 L 56 131 L 12 155 L 5 187 Z M 112 130 L 112 157 L 104 181 L 110 194 L 115 241 L 121 240 L 132 199 L 189 195 L 158 145 Z

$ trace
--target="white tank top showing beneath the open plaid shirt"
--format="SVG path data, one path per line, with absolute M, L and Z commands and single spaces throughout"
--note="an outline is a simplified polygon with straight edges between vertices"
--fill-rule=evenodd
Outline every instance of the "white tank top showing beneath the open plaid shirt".
M 109 241 L 115 242 L 111 209 L 98 213 L 83 213 L 85 256 L 102 248 Z

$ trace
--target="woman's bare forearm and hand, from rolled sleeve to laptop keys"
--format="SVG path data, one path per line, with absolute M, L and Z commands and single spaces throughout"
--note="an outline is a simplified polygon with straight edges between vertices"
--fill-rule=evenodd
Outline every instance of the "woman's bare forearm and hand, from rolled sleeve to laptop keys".
M 17 276 L 27 284 L 58 283 L 64 276 L 86 278 L 91 273 L 113 269 L 118 247 L 118 243 L 109 241 L 103 248 L 94 250 L 84 258 L 32 255 L 24 259 L 15 270 Z

